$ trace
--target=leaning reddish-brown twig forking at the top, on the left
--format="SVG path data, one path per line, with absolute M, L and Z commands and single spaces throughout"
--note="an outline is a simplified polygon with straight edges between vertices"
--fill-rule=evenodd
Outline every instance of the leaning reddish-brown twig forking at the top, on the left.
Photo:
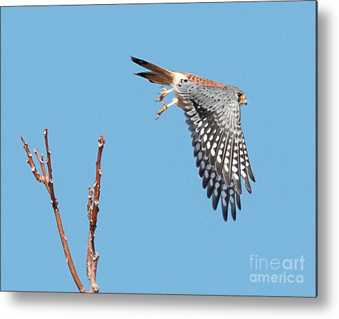
M 34 152 L 36 153 L 36 157 L 38 157 L 38 159 L 39 159 L 39 163 L 41 165 L 41 170 L 43 171 L 43 176 L 41 176 L 39 174 L 39 172 L 36 170 L 34 161 L 32 159 L 32 153 L 30 153 L 30 149 L 28 148 L 28 144 L 25 142 L 25 140 L 23 140 L 22 136 L 21 136 L 21 141 L 23 142 L 23 148 L 25 149 L 25 151 L 28 155 L 27 162 L 30 165 L 30 168 L 32 170 L 34 177 L 36 178 L 36 180 L 45 184 L 47 191 L 50 194 L 51 203 L 52 203 L 54 215 L 55 215 L 55 218 L 56 218 L 56 225 L 58 226 L 58 232 L 59 232 L 59 235 L 60 235 L 60 238 L 61 238 L 61 243 L 63 244 L 63 250 L 65 252 L 67 265 L 68 265 L 69 270 L 72 274 L 74 282 L 76 283 L 76 287 L 78 287 L 80 292 L 86 292 L 86 289 L 83 287 L 83 284 L 81 283 L 80 278 L 78 277 L 78 274 L 76 272 L 76 268 L 74 267 L 74 263 L 73 263 L 73 260 L 72 260 L 71 253 L 69 252 L 67 238 L 65 236 L 65 231 L 63 230 L 63 224 L 61 223 L 60 212 L 58 210 L 58 201 L 56 200 L 56 197 L 55 197 L 55 194 L 54 194 L 51 152 L 50 152 L 50 148 L 48 146 L 47 129 L 45 129 L 45 131 L 43 132 L 43 135 L 45 136 L 45 146 L 46 146 L 46 151 L 47 151 L 46 165 L 47 165 L 49 178 L 47 178 L 47 173 L 46 173 L 46 170 L 45 170 L 45 164 L 43 163 L 42 155 L 40 157 L 39 152 L 37 150 L 34 150 Z

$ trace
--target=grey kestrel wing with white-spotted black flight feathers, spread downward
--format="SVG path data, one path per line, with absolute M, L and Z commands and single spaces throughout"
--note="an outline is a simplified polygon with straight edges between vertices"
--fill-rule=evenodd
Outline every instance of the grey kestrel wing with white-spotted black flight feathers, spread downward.
M 235 220 L 235 202 L 241 209 L 241 179 L 250 193 L 249 177 L 255 181 L 241 130 L 237 98 L 226 88 L 197 85 L 188 80 L 180 80 L 176 91 L 192 133 L 194 155 L 207 196 L 212 197 L 214 209 L 221 198 L 225 220 L 230 205 Z

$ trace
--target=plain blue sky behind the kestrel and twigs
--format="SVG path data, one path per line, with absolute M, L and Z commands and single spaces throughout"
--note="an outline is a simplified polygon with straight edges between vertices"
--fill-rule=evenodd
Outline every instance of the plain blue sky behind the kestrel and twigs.
M 206 198 L 182 110 L 154 120 L 160 85 L 133 76 L 129 55 L 247 94 L 256 183 L 236 222 Z M 314 1 L 1 8 L 1 289 L 76 291 L 19 139 L 45 153 L 48 127 L 85 285 L 87 186 L 104 134 L 101 292 L 314 296 L 315 80 Z M 305 282 L 251 283 L 252 254 L 303 256 Z

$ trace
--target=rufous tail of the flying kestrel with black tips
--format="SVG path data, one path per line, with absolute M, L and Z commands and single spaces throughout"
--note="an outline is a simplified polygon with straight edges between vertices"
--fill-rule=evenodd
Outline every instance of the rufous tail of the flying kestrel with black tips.
M 142 78 L 146 78 L 151 83 L 158 83 L 161 85 L 171 85 L 171 83 L 173 82 L 173 71 L 141 60 L 140 58 L 135 58 L 134 56 L 131 56 L 131 60 L 134 63 L 151 70 L 151 72 L 135 73 L 136 76 L 142 76 Z

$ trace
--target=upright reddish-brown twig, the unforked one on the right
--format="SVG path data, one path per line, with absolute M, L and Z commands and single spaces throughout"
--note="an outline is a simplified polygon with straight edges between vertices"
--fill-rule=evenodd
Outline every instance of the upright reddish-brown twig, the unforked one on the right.
M 89 187 L 89 195 L 87 201 L 87 216 L 89 218 L 89 236 L 87 245 L 87 277 L 89 279 L 89 292 L 99 292 L 96 283 L 96 269 L 98 267 L 99 254 L 96 252 L 94 245 L 94 237 L 96 232 L 96 222 L 98 221 L 99 198 L 100 198 L 100 180 L 101 180 L 101 156 L 105 145 L 104 136 L 101 135 L 98 140 L 98 157 L 96 160 L 96 181 L 94 181 L 94 189 Z M 94 205 L 93 197 L 94 195 Z

